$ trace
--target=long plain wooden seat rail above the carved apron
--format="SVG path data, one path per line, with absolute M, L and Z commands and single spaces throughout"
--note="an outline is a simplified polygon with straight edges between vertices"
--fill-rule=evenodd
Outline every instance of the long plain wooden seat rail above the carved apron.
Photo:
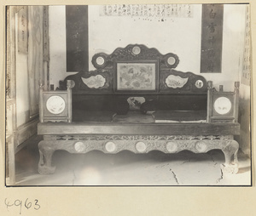
M 39 123 L 38 134 L 238 135 L 239 123 Z

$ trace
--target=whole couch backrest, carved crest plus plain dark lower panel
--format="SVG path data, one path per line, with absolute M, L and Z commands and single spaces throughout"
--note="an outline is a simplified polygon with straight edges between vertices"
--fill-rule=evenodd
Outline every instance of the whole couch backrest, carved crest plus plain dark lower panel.
M 67 80 L 75 83 L 75 121 L 95 111 L 110 111 L 111 117 L 131 110 L 207 111 L 206 79 L 175 70 L 178 63 L 176 54 L 160 54 L 156 48 L 130 44 L 112 54 L 95 54 L 92 64 L 96 70 L 66 77 L 60 89 L 66 89 Z

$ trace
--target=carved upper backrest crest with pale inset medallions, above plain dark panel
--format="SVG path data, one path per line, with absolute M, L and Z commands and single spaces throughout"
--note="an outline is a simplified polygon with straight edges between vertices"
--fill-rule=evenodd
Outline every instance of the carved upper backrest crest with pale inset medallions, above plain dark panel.
M 207 81 L 192 72 L 176 71 L 176 54 L 130 44 L 112 54 L 95 54 L 95 71 L 80 71 L 60 82 L 73 80 L 73 94 L 207 94 Z

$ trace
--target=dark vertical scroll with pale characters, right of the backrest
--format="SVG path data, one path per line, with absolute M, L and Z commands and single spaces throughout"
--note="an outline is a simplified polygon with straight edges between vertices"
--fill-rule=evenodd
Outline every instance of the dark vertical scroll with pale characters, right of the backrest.
M 223 4 L 202 5 L 201 73 L 221 72 L 223 16 Z

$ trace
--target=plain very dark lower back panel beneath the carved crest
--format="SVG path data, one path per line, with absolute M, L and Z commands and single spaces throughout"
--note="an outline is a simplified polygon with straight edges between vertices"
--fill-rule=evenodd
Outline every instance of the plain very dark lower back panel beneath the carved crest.
M 120 106 L 127 104 L 127 99 L 135 95 L 73 95 L 73 111 L 119 111 Z M 155 110 L 169 111 L 206 111 L 207 94 L 205 95 L 136 95 L 143 97 Z M 146 105 L 147 106 L 147 105 Z M 147 107 L 144 107 L 145 109 Z M 121 109 L 122 110 L 122 109 Z M 150 109 L 148 110 L 150 111 Z

